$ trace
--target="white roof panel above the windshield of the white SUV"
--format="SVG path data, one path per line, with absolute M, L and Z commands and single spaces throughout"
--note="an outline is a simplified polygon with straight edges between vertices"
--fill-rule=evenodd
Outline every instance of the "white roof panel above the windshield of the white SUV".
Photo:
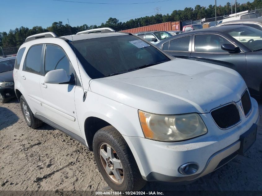
M 101 38 L 101 37 L 114 37 L 114 36 L 123 36 L 128 35 L 128 33 L 124 32 L 116 32 L 116 33 L 83 33 L 83 34 L 77 34 L 77 35 L 66 35 L 61 36 L 62 38 L 66 38 L 69 41 L 78 41 L 78 40 L 85 40 L 85 39 L 94 39 L 94 38 Z

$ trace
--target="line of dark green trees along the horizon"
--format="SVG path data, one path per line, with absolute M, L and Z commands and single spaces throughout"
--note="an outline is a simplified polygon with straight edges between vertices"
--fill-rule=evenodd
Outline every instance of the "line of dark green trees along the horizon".
M 237 12 L 254 10 L 255 8 L 262 8 L 262 0 L 254 0 L 254 2 L 246 2 L 239 4 L 237 3 Z M 231 3 L 226 3 L 224 6 L 217 6 L 217 16 L 229 15 L 231 14 Z M 233 6 L 233 13 L 234 13 Z M 196 5 L 193 9 L 192 7 L 186 7 L 184 10 L 174 10 L 171 14 L 155 14 L 151 16 L 144 16 L 140 18 L 135 18 L 128 20 L 126 22 L 119 22 L 116 18 L 109 18 L 105 23 L 101 25 L 90 25 L 83 24 L 82 26 L 71 27 L 71 32 L 73 34 L 93 28 L 110 27 L 116 31 L 126 30 L 130 28 L 137 28 L 141 26 L 147 26 L 151 24 L 159 24 L 163 22 L 170 21 L 184 21 L 184 20 L 199 20 L 202 18 L 213 18 L 215 17 L 215 5 L 209 5 L 208 7 Z M 0 46 L 2 48 L 8 47 L 19 47 L 25 41 L 26 37 L 43 32 L 54 32 L 58 36 L 70 35 L 70 29 L 68 24 L 63 24 L 61 21 L 54 22 L 50 27 L 42 28 L 41 26 L 35 26 L 31 29 L 27 27 L 16 28 L 15 30 L 10 30 L 8 33 L 0 32 Z

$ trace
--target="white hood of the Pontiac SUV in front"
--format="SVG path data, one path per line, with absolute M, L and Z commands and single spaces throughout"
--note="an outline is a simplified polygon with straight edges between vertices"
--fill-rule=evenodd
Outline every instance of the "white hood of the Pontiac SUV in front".
M 210 63 L 174 59 L 124 74 L 94 79 L 92 92 L 157 114 L 207 113 L 237 102 L 246 89 L 238 72 Z

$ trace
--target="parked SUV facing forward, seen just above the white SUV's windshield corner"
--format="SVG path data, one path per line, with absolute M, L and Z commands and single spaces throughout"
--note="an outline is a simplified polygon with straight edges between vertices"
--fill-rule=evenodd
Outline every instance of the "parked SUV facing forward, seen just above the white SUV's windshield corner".
M 142 37 L 143 39 L 149 41 L 154 45 L 156 45 L 157 43 L 168 37 L 172 37 L 172 35 L 166 31 L 145 31 L 145 32 L 135 33 L 135 35 Z

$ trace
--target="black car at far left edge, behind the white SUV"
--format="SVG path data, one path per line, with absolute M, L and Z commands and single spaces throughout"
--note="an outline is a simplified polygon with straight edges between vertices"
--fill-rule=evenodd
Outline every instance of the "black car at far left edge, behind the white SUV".
M 13 70 L 16 57 L 0 59 L 0 102 L 5 103 L 16 96 Z

